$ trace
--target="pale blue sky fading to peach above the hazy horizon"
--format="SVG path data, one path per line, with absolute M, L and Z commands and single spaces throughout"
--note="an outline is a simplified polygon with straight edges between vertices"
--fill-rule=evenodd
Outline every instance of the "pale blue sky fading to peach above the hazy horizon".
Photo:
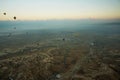
M 120 0 L 0 0 L 0 20 L 13 16 L 17 20 L 120 19 Z

